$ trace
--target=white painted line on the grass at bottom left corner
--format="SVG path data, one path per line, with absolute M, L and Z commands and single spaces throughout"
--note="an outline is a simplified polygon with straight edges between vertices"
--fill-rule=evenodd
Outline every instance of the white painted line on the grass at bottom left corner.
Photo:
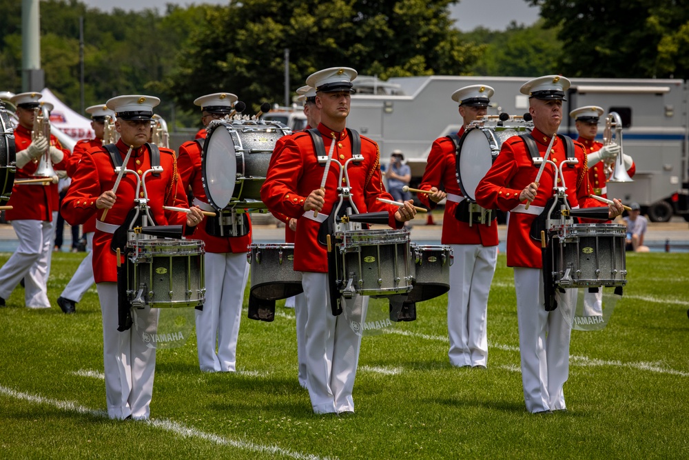
M 89 409 L 85 408 L 84 406 L 79 406 L 79 404 L 70 401 L 58 401 L 57 399 L 45 398 L 34 394 L 18 392 L 15 390 L 11 390 L 10 388 L 6 388 L 5 386 L 0 386 L 0 394 L 12 397 L 14 399 L 23 399 L 24 401 L 29 401 L 30 403 L 48 404 L 49 406 L 53 406 L 61 410 L 78 412 L 79 414 L 92 415 L 94 417 L 103 417 L 105 419 L 108 418 L 107 411 L 105 410 Z M 227 439 L 225 437 L 218 436 L 217 434 L 203 432 L 200 430 L 196 430 L 196 428 L 189 428 L 187 426 L 182 425 L 181 423 L 177 423 L 176 421 L 167 419 L 147 420 L 144 423 L 147 423 L 150 426 L 154 426 L 155 428 L 162 428 L 163 430 L 172 432 L 174 434 L 178 434 L 183 438 L 203 439 L 205 441 L 210 441 L 212 443 L 219 444 L 220 446 L 231 446 L 242 450 L 249 450 L 251 452 L 265 452 L 267 454 L 282 455 L 285 457 L 291 457 L 293 459 L 298 460 L 330 459 L 330 457 L 316 457 L 316 455 L 313 454 L 302 454 L 300 452 L 294 452 L 294 450 L 283 449 L 278 446 L 265 446 L 263 444 L 257 444 L 251 441 L 243 441 L 241 439 Z

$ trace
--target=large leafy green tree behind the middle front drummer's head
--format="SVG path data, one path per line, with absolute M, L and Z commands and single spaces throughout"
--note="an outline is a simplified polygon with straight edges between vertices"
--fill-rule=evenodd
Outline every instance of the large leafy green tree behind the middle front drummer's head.
M 183 105 L 213 90 L 253 104 L 282 101 L 284 50 L 291 90 L 321 68 L 350 66 L 382 79 L 462 74 L 480 54 L 451 28 L 453 0 L 247 0 L 205 11 L 178 68 L 161 81 Z

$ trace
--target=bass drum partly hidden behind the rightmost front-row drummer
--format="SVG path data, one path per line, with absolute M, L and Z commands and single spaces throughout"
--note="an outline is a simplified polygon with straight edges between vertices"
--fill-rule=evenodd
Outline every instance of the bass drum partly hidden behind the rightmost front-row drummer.
M 476 188 L 493 166 L 502 143 L 530 130 L 515 130 L 503 126 L 477 126 L 466 130 L 457 148 L 455 165 L 457 183 L 464 197 L 476 202 Z

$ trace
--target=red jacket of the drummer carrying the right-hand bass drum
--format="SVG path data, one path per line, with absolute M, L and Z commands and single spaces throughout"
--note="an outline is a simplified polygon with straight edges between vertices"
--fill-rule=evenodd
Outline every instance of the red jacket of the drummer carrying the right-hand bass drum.
M 464 127 L 457 133 L 460 137 L 464 134 Z M 488 152 L 486 152 L 488 154 Z M 440 137 L 435 139 L 431 153 L 429 153 L 428 162 L 426 163 L 426 170 L 421 181 L 421 190 L 431 190 L 431 187 L 440 188 L 444 186 L 447 193 L 462 195 L 460 186 L 457 183 L 455 160 L 456 160 L 455 143 L 447 137 Z M 437 203 L 429 199 L 425 193 L 418 194 L 418 197 L 424 205 L 431 209 L 438 206 Z M 497 246 L 497 221 L 491 222 L 490 226 L 481 223 L 473 223 L 470 227 L 469 223 L 458 221 L 455 219 L 455 210 L 459 203 L 447 200 L 445 203 L 445 212 L 442 219 L 442 235 L 440 242 L 442 244 L 480 244 L 482 246 Z

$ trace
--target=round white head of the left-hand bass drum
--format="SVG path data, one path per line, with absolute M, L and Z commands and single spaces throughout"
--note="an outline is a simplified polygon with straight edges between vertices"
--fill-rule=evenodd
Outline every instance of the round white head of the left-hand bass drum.
M 203 146 L 203 189 L 209 203 L 225 209 L 232 200 L 237 179 L 237 157 L 232 134 L 227 126 L 217 126 L 208 134 Z

